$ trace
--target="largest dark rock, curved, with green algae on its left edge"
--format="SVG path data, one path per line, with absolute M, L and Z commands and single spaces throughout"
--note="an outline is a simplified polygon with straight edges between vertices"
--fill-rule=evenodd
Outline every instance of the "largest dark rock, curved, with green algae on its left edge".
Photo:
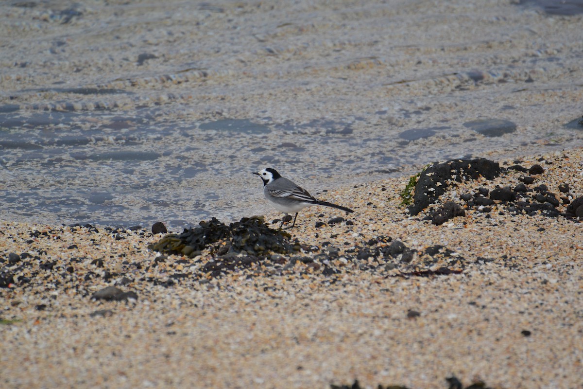
M 411 215 L 417 215 L 428 205 L 433 204 L 447 190 L 448 181 L 475 180 L 480 176 L 492 180 L 500 175 L 500 171 L 497 162 L 484 158 L 431 164 L 417 180 L 413 205 L 409 206 L 409 212 Z

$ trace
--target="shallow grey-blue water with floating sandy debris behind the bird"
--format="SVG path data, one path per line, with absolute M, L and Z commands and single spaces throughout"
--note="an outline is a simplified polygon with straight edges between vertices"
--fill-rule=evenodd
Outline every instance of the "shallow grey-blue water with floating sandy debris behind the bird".
M 582 17 L 530 3 L 51 1 L 0 15 L 4 220 L 180 227 L 270 211 L 250 174 L 262 167 L 317 194 L 583 145 Z

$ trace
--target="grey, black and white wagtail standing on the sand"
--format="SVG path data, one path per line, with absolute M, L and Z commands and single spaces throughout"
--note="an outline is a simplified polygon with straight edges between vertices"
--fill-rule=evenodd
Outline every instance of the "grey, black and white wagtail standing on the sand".
M 300 186 L 293 183 L 293 181 L 288 180 L 280 176 L 280 174 L 275 170 L 268 167 L 261 171 L 252 171 L 252 174 L 257 174 L 263 180 L 263 194 L 265 198 L 275 206 L 278 211 L 286 214 L 296 212 L 296 217 L 293 219 L 291 227 L 296 225 L 297 213 L 310 205 L 323 205 L 330 206 L 332 208 L 342 209 L 348 213 L 354 212 L 352 209 L 346 208 L 345 206 L 332 204 L 331 202 L 321 201 L 308 193 L 307 190 L 301 188 Z M 283 218 L 283 222 L 286 221 Z M 291 216 L 289 219 L 291 220 Z M 290 228 L 291 228 L 290 227 Z

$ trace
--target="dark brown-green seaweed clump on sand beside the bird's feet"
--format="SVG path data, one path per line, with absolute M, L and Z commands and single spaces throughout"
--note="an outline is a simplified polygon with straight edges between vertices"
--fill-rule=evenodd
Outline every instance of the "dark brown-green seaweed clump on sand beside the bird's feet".
M 181 234 L 168 234 L 149 248 L 170 254 L 182 254 L 190 258 L 208 248 L 211 253 L 243 253 L 264 255 L 269 252 L 289 254 L 299 250 L 299 243 L 290 242 L 291 235 L 282 230 L 269 228 L 258 216 L 243 218 L 225 225 L 212 218 L 202 221 L 198 227 L 185 229 Z

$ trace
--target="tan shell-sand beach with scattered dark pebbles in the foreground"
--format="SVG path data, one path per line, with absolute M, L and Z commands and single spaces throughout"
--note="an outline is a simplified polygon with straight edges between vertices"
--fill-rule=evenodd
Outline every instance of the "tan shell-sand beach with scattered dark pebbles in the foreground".
M 569 183 L 567 195 L 583 194 L 581 148 L 496 162 L 541 164 L 529 186 L 560 196 Z M 516 185 L 522 175 L 466 181 L 442 199 L 463 205 L 463 193 Z M 306 250 L 222 276 L 203 271 L 213 255 L 148 250 L 161 236 L 144 230 L 3 222 L 0 267 L 28 281 L 0 288 L 0 381 L 325 388 L 356 379 L 417 388 L 447 387 L 455 376 L 463 387 L 580 386 L 581 223 L 511 215 L 496 202 L 489 212 L 466 206 L 465 216 L 436 226 L 423 220 L 427 212 L 410 216 L 399 205 L 408 180 L 318 195 L 356 212 L 307 208 L 291 230 Z M 329 223 L 337 216 L 346 220 Z M 326 225 L 316 228 L 319 221 Z M 383 251 L 395 241 L 415 250 L 412 260 Z M 454 254 L 427 250 L 436 246 Z M 365 249 L 371 254 L 359 257 Z M 413 273 L 444 267 L 460 272 Z M 92 299 L 107 286 L 136 296 Z

